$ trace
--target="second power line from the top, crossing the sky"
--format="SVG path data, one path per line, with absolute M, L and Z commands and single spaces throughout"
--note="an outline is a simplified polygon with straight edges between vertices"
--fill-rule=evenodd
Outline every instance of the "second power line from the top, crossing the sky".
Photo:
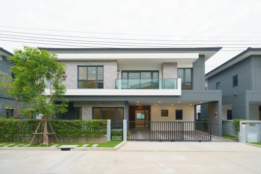
M 43 35 L 43 36 L 71 37 L 71 38 L 110 39 L 110 40 L 135 40 L 135 41 L 171 41 L 171 42 L 261 42 L 260 40 L 156 40 L 156 39 L 123 39 L 123 38 L 102 38 L 102 37 L 68 36 L 68 35 L 50 35 L 50 34 L 39 34 L 39 33 L 11 32 L 11 31 L 0 31 L 0 32 L 29 34 L 29 35 Z

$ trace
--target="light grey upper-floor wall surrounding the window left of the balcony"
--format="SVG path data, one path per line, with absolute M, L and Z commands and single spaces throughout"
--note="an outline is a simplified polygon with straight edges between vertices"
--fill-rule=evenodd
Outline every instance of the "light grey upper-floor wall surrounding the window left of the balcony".
M 117 61 L 59 61 L 66 64 L 67 78 L 64 84 L 67 89 L 77 89 L 77 66 L 103 66 L 103 89 L 115 89 L 115 79 L 118 78 Z

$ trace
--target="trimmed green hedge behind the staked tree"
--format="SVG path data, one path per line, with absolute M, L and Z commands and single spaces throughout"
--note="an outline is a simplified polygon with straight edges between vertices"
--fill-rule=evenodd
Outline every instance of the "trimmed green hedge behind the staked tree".
M 0 119 L 0 141 L 15 141 L 32 136 L 40 120 Z M 107 132 L 107 120 L 50 120 L 58 138 L 102 137 Z M 40 127 L 39 132 L 41 132 Z M 48 131 L 50 128 L 48 127 Z

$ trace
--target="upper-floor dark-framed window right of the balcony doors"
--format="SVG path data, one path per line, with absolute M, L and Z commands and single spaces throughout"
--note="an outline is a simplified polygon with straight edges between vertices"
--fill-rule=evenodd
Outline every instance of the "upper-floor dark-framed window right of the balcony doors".
M 178 68 L 177 77 L 181 78 L 181 90 L 192 90 L 192 69 Z

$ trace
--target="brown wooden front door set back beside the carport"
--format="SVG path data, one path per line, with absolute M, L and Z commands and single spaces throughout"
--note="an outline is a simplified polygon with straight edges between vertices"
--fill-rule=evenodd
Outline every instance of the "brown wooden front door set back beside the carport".
M 135 128 L 148 128 L 149 110 L 135 110 Z

